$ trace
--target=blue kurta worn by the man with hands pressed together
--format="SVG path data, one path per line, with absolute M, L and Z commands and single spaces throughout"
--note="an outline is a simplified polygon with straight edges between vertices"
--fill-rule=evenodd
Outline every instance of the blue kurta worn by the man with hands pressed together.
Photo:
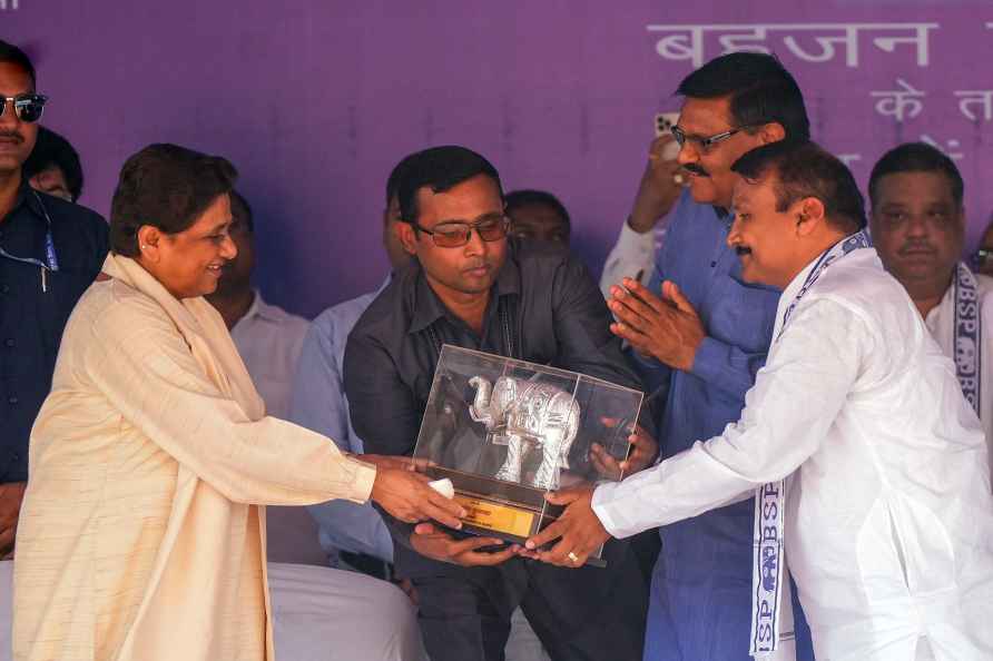
M 710 438 L 736 422 L 745 393 L 765 364 L 779 292 L 741 280 L 727 246 L 730 216 L 684 193 L 674 209 L 650 284 L 672 280 L 692 303 L 707 337 L 692 369 L 643 365 L 662 388 L 659 421 L 663 457 Z M 753 499 L 660 529 L 662 553 L 652 576 L 646 661 L 750 661 Z M 797 659 L 813 659 L 797 611 Z

